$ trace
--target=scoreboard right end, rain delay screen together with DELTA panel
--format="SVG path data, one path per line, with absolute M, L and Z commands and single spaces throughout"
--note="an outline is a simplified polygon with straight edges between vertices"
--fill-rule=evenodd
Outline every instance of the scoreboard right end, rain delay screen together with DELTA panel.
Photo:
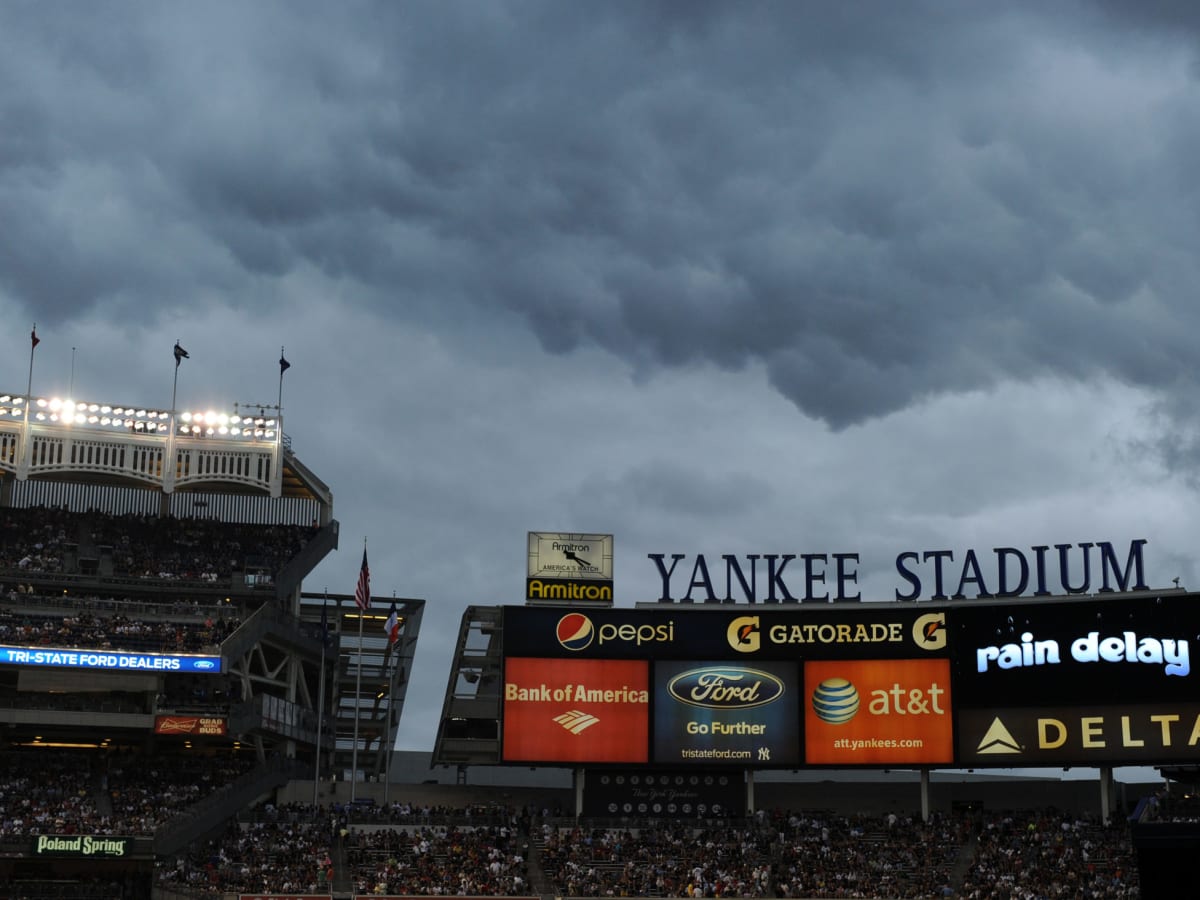
M 956 610 L 960 766 L 1200 763 L 1189 595 Z

